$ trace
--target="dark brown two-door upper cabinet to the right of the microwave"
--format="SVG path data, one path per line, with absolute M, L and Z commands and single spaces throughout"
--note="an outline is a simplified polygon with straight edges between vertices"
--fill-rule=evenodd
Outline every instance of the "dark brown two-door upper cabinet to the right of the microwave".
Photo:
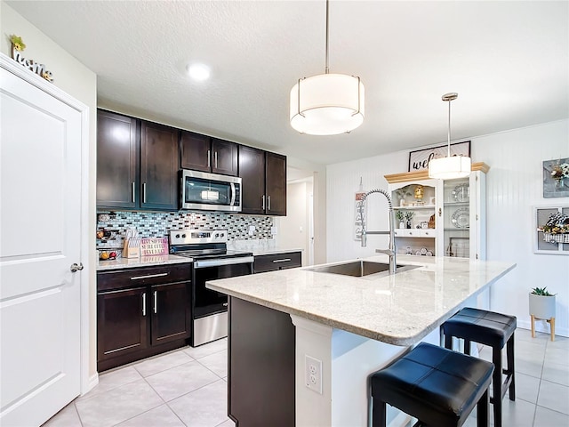
M 286 157 L 239 146 L 242 213 L 286 215 Z

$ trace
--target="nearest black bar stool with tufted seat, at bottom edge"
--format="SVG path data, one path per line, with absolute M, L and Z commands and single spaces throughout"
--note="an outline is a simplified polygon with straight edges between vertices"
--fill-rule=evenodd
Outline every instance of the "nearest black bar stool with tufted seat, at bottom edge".
M 476 406 L 477 427 L 487 427 L 493 370 L 485 360 L 421 342 L 371 375 L 373 427 L 386 427 L 388 403 L 417 418 L 415 426 L 437 427 L 460 427 Z

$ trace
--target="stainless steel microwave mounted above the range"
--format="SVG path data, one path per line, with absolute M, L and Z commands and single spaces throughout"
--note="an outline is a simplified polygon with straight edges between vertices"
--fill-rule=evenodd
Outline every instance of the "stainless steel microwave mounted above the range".
M 241 178 L 182 170 L 181 209 L 241 212 Z

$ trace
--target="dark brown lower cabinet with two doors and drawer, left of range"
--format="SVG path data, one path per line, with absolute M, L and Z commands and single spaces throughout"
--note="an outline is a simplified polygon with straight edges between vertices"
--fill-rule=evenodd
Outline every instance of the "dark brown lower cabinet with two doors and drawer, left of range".
M 187 345 L 189 278 L 191 264 L 97 274 L 98 371 Z

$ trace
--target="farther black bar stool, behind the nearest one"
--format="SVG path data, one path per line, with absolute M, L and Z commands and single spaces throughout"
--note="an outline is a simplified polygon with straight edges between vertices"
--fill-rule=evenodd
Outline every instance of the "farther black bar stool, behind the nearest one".
M 480 342 L 492 347 L 494 364 L 493 404 L 494 426 L 501 427 L 501 400 L 509 390 L 509 399 L 516 400 L 516 375 L 514 369 L 514 331 L 516 317 L 493 311 L 465 308 L 445 321 L 441 326 L 445 334 L 445 347 L 453 348 L 453 336 L 464 340 L 464 353 L 470 354 L 470 342 Z M 502 368 L 501 350 L 506 345 L 508 367 Z M 502 383 L 502 374 L 506 375 Z

